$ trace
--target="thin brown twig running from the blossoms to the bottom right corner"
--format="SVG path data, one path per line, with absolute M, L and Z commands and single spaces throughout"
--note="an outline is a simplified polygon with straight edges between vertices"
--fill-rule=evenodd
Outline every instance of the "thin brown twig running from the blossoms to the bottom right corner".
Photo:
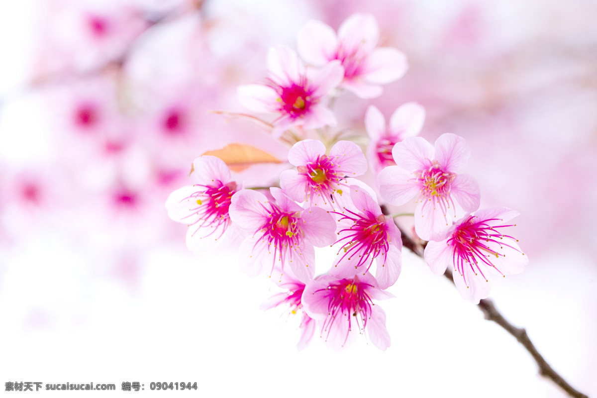
M 387 213 L 386 209 L 382 208 L 382 210 L 384 214 Z M 396 226 L 398 226 L 398 224 L 396 224 Z M 398 229 L 402 234 L 402 246 L 423 258 L 424 247 L 414 242 L 414 240 L 411 239 L 411 237 L 408 236 L 404 230 L 400 228 L 400 226 L 398 226 Z M 454 283 L 452 271 L 450 269 L 445 271 L 444 276 L 447 277 L 447 279 L 450 279 L 450 282 Z M 553 368 L 549 366 L 549 363 L 547 363 L 543 356 L 541 356 L 531 339 L 528 337 L 527 331 L 523 328 L 516 328 L 516 326 L 508 322 L 500 313 L 500 311 L 497 310 L 496 306 L 493 304 L 493 301 L 489 300 L 488 298 L 484 298 L 483 300 L 479 301 L 478 307 L 479 310 L 481 310 L 485 315 L 485 319 L 496 322 L 504 330 L 506 330 L 506 332 L 513 335 L 516 340 L 522 344 L 522 346 L 531 354 L 535 362 L 537 362 L 539 374 L 541 376 L 555 382 L 555 384 L 559 385 L 562 390 L 566 391 L 571 397 L 589 398 L 580 391 L 575 390 L 570 384 L 568 384 L 567 381 L 564 380 L 564 378 L 558 374 L 558 372 L 554 371 Z

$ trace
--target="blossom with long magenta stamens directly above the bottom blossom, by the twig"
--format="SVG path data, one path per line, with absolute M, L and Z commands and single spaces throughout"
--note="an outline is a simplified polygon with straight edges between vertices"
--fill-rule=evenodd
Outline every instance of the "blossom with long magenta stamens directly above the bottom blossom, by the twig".
M 350 186 L 353 206 L 337 213 L 338 240 L 342 246 L 330 274 L 351 277 L 365 274 L 376 260 L 376 279 L 381 289 L 392 286 L 402 267 L 402 239 L 392 217 L 381 213 L 380 206 L 365 189 Z

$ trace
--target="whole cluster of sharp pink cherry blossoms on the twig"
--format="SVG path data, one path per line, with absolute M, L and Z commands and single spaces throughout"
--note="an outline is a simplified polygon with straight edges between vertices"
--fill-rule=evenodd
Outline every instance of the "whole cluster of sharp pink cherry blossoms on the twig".
M 490 290 L 487 270 L 520 272 L 527 263 L 516 239 L 504 235 L 518 213 L 506 208 L 479 210 L 479 187 L 459 173 L 470 150 L 463 138 L 443 134 L 432 146 L 417 137 L 425 112 L 416 103 L 396 109 L 386 127 L 380 110 L 365 115 L 370 137 L 367 158 L 350 140 L 338 140 L 330 128 L 337 118 L 330 98 L 346 89 L 361 98 L 381 94 L 381 84 L 404 75 L 405 57 L 377 47 L 372 16 L 355 14 L 340 26 L 309 21 L 298 35 L 298 53 L 272 48 L 267 55 L 267 84 L 244 85 L 239 99 L 253 112 L 271 113 L 273 137 L 292 146 L 279 187 L 244 187 L 233 181 L 226 163 L 201 156 L 193 163 L 195 185 L 173 192 L 166 206 L 175 221 L 187 224 L 193 251 L 213 249 L 237 239 L 243 269 L 266 274 L 282 292 L 264 308 L 287 306 L 300 313 L 304 347 L 316 333 L 334 348 L 365 334 L 381 350 L 390 345 L 386 314 L 374 301 L 393 297 L 386 289 L 402 267 L 401 230 L 386 204 L 401 206 L 417 198 L 416 235 L 427 240 L 424 258 L 442 274 L 453 267 L 460 294 L 473 303 Z M 318 132 L 321 140 L 307 137 Z M 294 142 L 293 142 L 294 141 Z M 356 177 L 368 165 L 374 187 Z M 336 259 L 322 274 L 315 246 L 331 246 Z

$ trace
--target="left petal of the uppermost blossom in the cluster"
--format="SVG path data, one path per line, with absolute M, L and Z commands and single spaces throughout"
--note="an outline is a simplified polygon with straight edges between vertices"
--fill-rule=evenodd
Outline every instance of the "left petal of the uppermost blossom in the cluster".
M 310 20 L 298 31 L 297 47 L 303 60 L 322 66 L 336 56 L 338 38 L 330 26 Z

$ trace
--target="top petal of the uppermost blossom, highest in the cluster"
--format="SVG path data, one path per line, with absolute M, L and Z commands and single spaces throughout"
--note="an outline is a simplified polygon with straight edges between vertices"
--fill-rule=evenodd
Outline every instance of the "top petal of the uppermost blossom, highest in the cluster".
M 379 40 L 377 21 L 371 14 L 352 14 L 340 25 L 338 37 L 345 49 L 364 47 L 371 51 Z

